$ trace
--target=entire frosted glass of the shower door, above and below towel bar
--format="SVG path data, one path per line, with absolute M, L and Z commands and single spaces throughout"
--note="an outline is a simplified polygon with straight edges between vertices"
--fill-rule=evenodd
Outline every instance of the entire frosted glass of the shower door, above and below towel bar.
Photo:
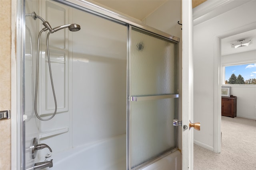
M 130 160 L 137 168 L 177 148 L 178 98 L 156 97 L 178 92 L 177 43 L 132 29 L 130 45 L 130 97 L 153 96 L 130 102 Z

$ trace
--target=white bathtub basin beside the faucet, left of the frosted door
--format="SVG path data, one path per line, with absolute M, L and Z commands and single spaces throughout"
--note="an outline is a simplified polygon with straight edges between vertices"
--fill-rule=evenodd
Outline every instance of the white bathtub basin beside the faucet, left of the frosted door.
M 126 134 L 52 154 L 52 170 L 126 170 Z

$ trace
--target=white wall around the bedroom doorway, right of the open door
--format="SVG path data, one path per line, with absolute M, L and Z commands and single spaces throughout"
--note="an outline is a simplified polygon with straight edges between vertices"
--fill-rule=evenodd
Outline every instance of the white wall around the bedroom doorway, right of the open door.
M 219 71 L 216 38 L 256 22 L 255 6 L 256 1 L 251 1 L 194 26 L 194 120 L 201 123 L 194 140 L 210 150 L 214 150 L 214 117 L 219 114 L 219 109 L 214 108 L 214 95 L 220 85 L 218 78 L 214 82 Z

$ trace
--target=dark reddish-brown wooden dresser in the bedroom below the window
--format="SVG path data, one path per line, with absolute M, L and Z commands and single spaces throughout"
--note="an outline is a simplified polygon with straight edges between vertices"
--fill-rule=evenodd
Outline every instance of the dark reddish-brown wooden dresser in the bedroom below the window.
M 221 98 L 221 115 L 236 117 L 236 96 L 222 97 Z

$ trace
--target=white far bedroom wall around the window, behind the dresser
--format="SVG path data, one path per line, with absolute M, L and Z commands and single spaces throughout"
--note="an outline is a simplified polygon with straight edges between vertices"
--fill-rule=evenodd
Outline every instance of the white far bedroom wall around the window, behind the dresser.
M 221 56 L 222 66 L 255 61 L 256 50 Z M 256 85 L 228 84 L 227 86 L 231 86 L 231 95 L 237 96 L 237 116 L 256 119 Z

